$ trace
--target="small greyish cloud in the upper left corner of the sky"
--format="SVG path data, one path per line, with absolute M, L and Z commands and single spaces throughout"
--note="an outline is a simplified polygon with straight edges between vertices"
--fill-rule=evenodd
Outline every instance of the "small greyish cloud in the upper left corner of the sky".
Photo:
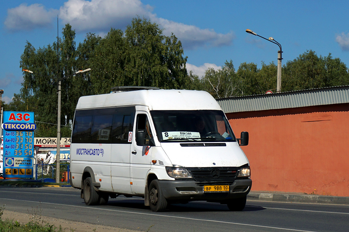
M 5 26 L 10 31 L 32 30 L 36 27 L 51 25 L 57 10 L 46 10 L 42 4 L 27 5 L 22 3 L 18 7 L 8 9 Z

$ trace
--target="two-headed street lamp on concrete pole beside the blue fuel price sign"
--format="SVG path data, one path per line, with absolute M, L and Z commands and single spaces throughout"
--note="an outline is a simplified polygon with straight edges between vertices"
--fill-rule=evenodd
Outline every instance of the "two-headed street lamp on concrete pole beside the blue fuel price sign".
M 58 113 L 57 113 L 57 154 L 56 154 L 56 183 L 59 183 L 59 165 L 60 165 L 60 146 L 61 146 L 61 80 L 67 77 L 72 77 L 78 73 L 83 73 L 83 72 L 87 72 L 90 71 L 91 69 L 85 69 L 85 70 L 79 70 L 77 72 L 75 72 L 72 75 L 66 76 L 66 77 L 62 77 L 60 79 L 58 79 Z M 25 72 L 30 72 L 33 73 L 32 71 L 28 70 L 28 69 L 23 69 L 23 71 Z M 41 75 L 38 73 L 35 73 L 37 75 L 43 76 L 43 77 L 47 77 L 45 75 Z M 47 77 L 49 78 L 49 77 Z

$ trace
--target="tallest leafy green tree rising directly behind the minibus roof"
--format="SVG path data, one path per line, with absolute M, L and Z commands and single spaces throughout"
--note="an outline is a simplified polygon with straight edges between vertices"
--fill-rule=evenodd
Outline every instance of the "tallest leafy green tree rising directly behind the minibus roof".
M 187 57 L 183 57 L 181 42 L 173 34 L 164 36 L 162 31 L 158 24 L 139 17 L 127 26 L 129 60 L 125 69 L 126 76 L 133 79 L 132 85 L 164 89 L 188 85 Z

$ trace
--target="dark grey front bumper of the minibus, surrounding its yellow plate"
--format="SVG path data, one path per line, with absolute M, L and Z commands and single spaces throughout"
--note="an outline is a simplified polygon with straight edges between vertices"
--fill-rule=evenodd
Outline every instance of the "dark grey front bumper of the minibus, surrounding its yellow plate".
M 205 200 L 224 201 L 245 197 L 251 190 L 251 179 L 236 179 L 229 184 L 229 192 L 203 192 L 203 185 L 222 185 L 222 183 L 203 183 L 197 181 L 159 180 L 164 197 L 168 200 Z

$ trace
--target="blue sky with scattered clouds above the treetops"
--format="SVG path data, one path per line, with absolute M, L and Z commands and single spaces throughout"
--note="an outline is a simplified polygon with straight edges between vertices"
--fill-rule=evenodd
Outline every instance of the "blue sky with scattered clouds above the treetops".
M 1 1 L 0 89 L 9 103 L 20 93 L 20 59 L 26 41 L 36 49 L 52 44 L 66 23 L 76 30 L 76 45 L 86 33 L 102 37 L 111 27 L 124 30 L 132 18 L 149 18 L 173 32 L 188 56 L 187 69 L 201 77 L 208 67 L 219 69 L 226 60 L 236 69 L 243 62 L 277 63 L 279 47 L 248 34 L 281 43 L 282 64 L 306 50 L 339 57 L 349 66 L 349 4 L 347 1 L 164 1 L 66 0 Z M 276 88 L 276 87 L 275 87 Z

